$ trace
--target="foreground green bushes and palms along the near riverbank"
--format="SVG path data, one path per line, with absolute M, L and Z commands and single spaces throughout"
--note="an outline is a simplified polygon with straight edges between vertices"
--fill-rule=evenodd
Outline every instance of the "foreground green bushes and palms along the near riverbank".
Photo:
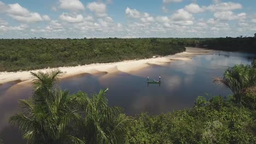
M 108 89 L 70 95 L 56 85 L 60 73 L 31 73 L 33 95 L 9 119 L 28 143 L 256 143 L 256 61 L 214 78 L 232 95 L 198 97 L 191 109 L 155 116 L 108 106 Z

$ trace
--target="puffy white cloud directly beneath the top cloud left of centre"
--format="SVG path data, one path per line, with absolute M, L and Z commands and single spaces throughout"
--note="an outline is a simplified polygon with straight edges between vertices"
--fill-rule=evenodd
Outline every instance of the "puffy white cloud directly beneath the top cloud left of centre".
M 79 15 L 70 15 L 70 14 L 67 14 L 67 13 L 62 13 L 60 15 L 60 19 L 62 21 L 65 21 L 65 22 L 69 22 L 69 23 L 79 23 L 79 22 L 83 22 L 83 15 L 79 14 Z

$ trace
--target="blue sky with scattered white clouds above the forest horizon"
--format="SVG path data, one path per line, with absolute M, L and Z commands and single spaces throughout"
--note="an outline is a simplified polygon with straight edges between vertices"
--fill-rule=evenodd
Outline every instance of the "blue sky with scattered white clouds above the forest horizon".
M 254 0 L 0 0 L 0 38 L 205 38 L 254 33 Z

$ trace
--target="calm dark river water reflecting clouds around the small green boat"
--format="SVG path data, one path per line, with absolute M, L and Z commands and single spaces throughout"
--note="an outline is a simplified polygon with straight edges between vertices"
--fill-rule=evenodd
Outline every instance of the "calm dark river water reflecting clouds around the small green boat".
M 227 96 L 231 91 L 212 82 L 213 77 L 222 76 L 223 71 L 235 64 L 251 64 L 256 56 L 242 52 L 215 52 L 202 55 L 192 61 L 175 61 L 164 66 L 150 65 L 132 73 L 82 74 L 62 80 L 60 86 L 71 93 L 84 91 L 95 93 L 109 88 L 107 97 L 110 105 L 121 106 L 128 115 L 149 112 L 153 115 L 192 107 L 197 96 Z M 161 85 L 147 84 L 146 77 L 158 79 Z M 24 143 L 17 129 L 8 125 L 9 116 L 18 111 L 18 99 L 31 95 L 30 86 L 15 85 L 17 82 L 0 86 L 0 137 L 4 143 Z

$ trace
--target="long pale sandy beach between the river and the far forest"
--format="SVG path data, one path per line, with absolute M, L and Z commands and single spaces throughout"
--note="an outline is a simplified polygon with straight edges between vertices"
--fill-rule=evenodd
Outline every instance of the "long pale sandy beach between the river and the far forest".
M 176 55 L 170 55 L 165 57 L 157 57 L 157 58 L 149 58 L 149 59 L 140 59 L 140 60 L 131 60 L 131 61 L 123 61 L 123 62 L 115 62 L 115 63 L 96 63 L 96 64 L 88 64 L 88 65 L 79 65 L 76 67 L 59 67 L 63 74 L 61 78 L 74 76 L 83 73 L 94 74 L 98 72 L 107 72 L 107 73 L 115 73 L 117 71 L 123 71 L 125 73 L 130 73 L 131 71 L 136 71 L 142 68 L 146 68 L 149 64 L 156 65 L 164 65 L 168 62 L 182 60 L 182 61 L 190 61 L 191 57 L 196 55 L 207 55 L 213 52 L 213 50 L 199 49 L 194 47 L 186 47 L 185 52 L 176 53 Z M 48 69 L 39 69 L 39 70 L 31 70 L 33 72 L 37 71 L 48 71 L 53 70 L 54 68 Z M 31 82 L 32 77 L 31 71 L 17 71 L 17 72 L 1 72 L 0 73 L 0 84 L 6 83 L 10 81 L 20 80 L 19 84 Z

